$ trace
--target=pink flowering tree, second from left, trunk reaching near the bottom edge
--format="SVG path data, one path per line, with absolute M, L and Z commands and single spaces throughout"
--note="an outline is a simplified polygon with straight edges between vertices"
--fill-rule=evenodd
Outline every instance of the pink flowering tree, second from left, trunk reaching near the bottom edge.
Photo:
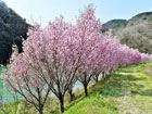
M 75 74 L 80 66 L 81 53 L 76 39 L 76 27 L 65 23 L 63 17 L 50 22 L 45 29 L 43 66 L 47 71 L 46 83 L 60 100 L 61 112 L 64 112 L 64 96 L 75 83 Z

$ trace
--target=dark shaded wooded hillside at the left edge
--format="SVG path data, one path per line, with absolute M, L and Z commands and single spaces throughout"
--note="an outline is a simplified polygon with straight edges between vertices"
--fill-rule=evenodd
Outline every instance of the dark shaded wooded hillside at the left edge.
M 24 18 L 0 0 L 0 64 L 8 63 L 13 43 L 22 51 L 22 38 L 27 38 L 28 26 Z

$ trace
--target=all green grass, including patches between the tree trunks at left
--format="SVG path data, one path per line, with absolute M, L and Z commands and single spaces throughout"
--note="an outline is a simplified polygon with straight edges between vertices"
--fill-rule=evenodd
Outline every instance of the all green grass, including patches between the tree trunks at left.
M 66 94 L 64 114 L 152 114 L 152 63 L 118 68 L 109 80 L 91 85 L 88 90 L 87 98 L 84 90 L 75 90 L 73 102 Z M 13 104 L 7 105 L 13 109 Z M 17 114 L 37 114 L 27 102 L 17 104 Z M 47 101 L 45 114 L 60 114 L 56 99 Z

